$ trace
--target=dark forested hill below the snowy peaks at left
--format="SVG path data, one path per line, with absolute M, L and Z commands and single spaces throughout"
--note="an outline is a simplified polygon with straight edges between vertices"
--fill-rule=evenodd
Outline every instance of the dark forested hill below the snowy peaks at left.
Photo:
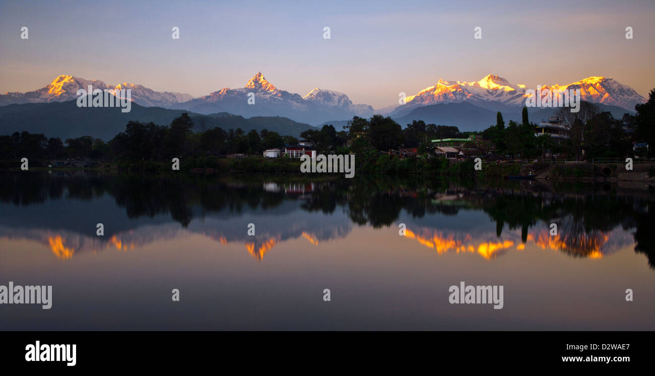
M 132 103 L 128 113 L 122 113 L 119 107 L 77 107 L 75 100 L 50 103 L 11 104 L 0 107 L 0 135 L 22 132 L 43 133 L 47 137 L 62 140 L 80 136 L 93 136 L 108 141 L 125 130 L 129 121 L 154 122 L 167 126 L 182 113 L 189 113 L 195 123 L 195 130 L 214 127 L 228 130 L 241 128 L 244 132 L 252 129 L 257 132 L 268 129 L 281 135 L 298 137 L 301 132 L 315 129 L 309 124 L 295 122 L 284 117 L 252 117 L 229 113 L 200 115 L 189 111 L 164 109 L 161 107 L 143 107 Z

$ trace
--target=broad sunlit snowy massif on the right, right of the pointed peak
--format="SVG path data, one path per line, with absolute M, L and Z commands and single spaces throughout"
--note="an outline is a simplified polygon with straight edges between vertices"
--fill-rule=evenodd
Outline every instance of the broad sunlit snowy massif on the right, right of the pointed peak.
M 582 100 L 589 102 L 617 105 L 634 111 L 635 104 L 643 103 L 645 98 L 633 88 L 605 77 L 588 77 L 569 85 L 543 85 L 542 89 L 580 89 Z M 536 90 L 535 88 L 532 88 Z M 424 88 L 419 93 L 405 98 L 405 105 L 396 107 L 394 113 L 406 113 L 407 110 L 437 103 L 472 102 L 483 107 L 522 106 L 525 105 L 525 85 L 512 85 L 508 80 L 497 75 L 487 75 L 480 81 L 443 81 Z M 404 108 L 403 108 L 404 107 Z

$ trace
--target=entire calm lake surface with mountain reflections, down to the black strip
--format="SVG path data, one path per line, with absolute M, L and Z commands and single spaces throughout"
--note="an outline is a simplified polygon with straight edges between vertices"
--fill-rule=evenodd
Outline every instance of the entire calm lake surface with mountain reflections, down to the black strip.
M 50 310 L 0 305 L 0 330 L 653 330 L 654 197 L 538 181 L 1 172 L 0 285 L 53 297 Z M 460 281 L 504 286 L 503 309 L 451 305 Z

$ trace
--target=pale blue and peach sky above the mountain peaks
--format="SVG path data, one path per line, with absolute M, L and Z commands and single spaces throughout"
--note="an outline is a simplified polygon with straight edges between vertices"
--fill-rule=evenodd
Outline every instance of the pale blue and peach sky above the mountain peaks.
M 282 90 L 376 109 L 489 73 L 528 87 L 612 77 L 647 96 L 653 25 L 652 0 L 0 1 L 0 92 L 69 74 L 202 96 L 261 71 Z

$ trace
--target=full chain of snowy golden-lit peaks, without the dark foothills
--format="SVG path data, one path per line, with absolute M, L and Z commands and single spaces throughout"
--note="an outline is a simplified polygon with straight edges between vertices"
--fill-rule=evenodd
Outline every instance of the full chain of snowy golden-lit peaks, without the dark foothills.
M 369 105 L 354 104 L 346 94 L 334 90 L 314 88 L 304 97 L 280 90 L 267 81 L 261 72 L 242 88 L 222 88 L 201 98 L 178 92 L 157 92 L 132 83 L 110 86 L 103 81 L 60 75 L 39 90 L 0 95 L 0 105 L 74 100 L 77 90 L 86 90 L 89 85 L 94 89 L 110 90 L 115 95 L 122 88 L 129 88 L 135 103 L 149 107 L 184 109 L 204 114 L 229 112 L 244 117 L 282 116 L 309 124 L 351 119 L 354 115 L 369 117 L 373 113 L 403 117 L 417 107 L 438 103 L 470 102 L 492 111 L 514 111 L 515 107 L 525 104 L 527 90 L 525 85 L 514 85 L 497 75 L 487 75 L 472 82 L 440 79 L 436 85 L 405 98 L 405 105 L 383 107 L 376 111 Z M 634 111 L 635 104 L 645 102 L 645 98 L 633 88 L 606 77 L 588 77 L 568 85 L 544 85 L 542 88 L 580 89 L 582 100 L 615 105 L 629 111 Z M 531 89 L 536 90 L 536 87 Z M 254 104 L 248 103 L 251 92 L 255 94 Z

